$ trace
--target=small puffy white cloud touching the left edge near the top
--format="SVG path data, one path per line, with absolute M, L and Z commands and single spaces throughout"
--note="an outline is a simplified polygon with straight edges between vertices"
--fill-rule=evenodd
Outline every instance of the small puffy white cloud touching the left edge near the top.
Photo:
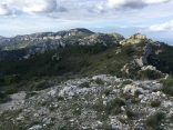
M 12 14 L 12 11 L 7 6 L 7 3 L 0 3 L 0 16 L 10 16 Z

